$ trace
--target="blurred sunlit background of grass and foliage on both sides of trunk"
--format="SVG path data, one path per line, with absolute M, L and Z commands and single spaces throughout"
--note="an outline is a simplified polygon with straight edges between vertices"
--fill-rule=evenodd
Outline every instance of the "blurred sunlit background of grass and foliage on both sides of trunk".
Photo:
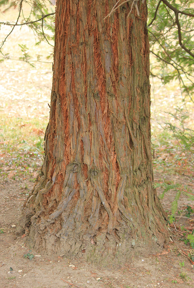
M 136 2 L 144 5 L 145 1 Z M 123 5 L 130 9 L 134 5 L 132 13 L 136 13 L 136 2 Z M 180 145 L 188 131 L 193 139 L 194 0 L 149 0 L 147 5 L 153 166 L 159 184 L 166 183 L 173 189 L 176 178 L 169 180 L 166 175 L 185 174 L 192 182 L 194 173 L 188 156 L 193 142 L 185 146 L 190 147 L 190 152 Z M 44 131 L 49 120 L 55 0 L 0 0 L 0 11 L 0 180 L 31 177 L 34 181 L 42 164 Z M 14 64 L 18 61 L 22 64 Z M 184 135 L 180 113 L 187 115 Z

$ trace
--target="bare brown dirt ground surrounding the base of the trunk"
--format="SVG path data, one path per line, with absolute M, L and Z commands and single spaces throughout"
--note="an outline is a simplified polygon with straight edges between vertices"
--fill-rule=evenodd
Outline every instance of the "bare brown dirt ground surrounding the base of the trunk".
M 163 177 L 169 178 L 168 175 Z M 174 176 L 173 176 L 174 177 Z M 157 179 L 161 175 L 156 174 Z M 178 178 L 178 177 L 177 177 Z M 185 183 L 187 179 L 182 177 Z M 179 178 L 180 181 L 180 178 Z M 116 268 L 114 263 L 106 269 L 94 267 L 82 259 L 63 259 L 63 256 L 53 255 L 48 257 L 45 253 L 34 251 L 29 247 L 25 234 L 17 236 L 15 228 L 22 211 L 22 204 L 26 199 L 26 184 L 28 191 L 32 188 L 32 181 L 29 179 L 17 183 L 6 181 L 0 183 L 0 227 L 3 232 L 0 234 L 0 287 L 21 287 L 21 288 L 62 288 L 62 287 L 194 287 L 194 272 L 192 263 L 187 257 L 189 246 L 180 241 L 180 233 L 177 233 L 178 226 L 194 226 L 194 221 L 189 219 L 175 223 L 170 227 L 172 241 L 163 250 L 154 254 L 134 255 L 123 267 Z M 162 201 L 164 209 L 168 210 L 172 201 L 173 193 L 168 194 Z M 181 198 L 179 206 L 185 207 L 191 204 Z M 30 253 L 35 257 L 32 260 L 24 258 Z M 182 253 L 182 254 L 181 254 Z M 181 266 L 187 273 L 187 282 L 181 279 Z M 73 266 L 72 266 L 73 265 Z M 12 270 L 12 269 L 13 270 Z M 172 283 L 177 281 L 177 283 Z M 186 284 L 187 283 L 187 284 Z

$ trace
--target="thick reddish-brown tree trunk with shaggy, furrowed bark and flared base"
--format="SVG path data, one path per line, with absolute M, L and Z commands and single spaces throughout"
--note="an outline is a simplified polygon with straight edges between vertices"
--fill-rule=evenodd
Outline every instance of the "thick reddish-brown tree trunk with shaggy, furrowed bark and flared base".
M 116 2 L 57 0 L 44 164 L 20 221 L 36 249 L 95 262 L 168 241 L 152 187 L 147 6 L 104 20 Z

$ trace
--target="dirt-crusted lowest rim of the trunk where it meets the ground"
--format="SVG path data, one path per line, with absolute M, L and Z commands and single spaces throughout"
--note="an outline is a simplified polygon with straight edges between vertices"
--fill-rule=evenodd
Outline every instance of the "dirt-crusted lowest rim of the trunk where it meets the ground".
M 17 232 L 26 233 L 30 226 L 30 232 L 27 235 L 30 247 L 41 253 L 46 251 L 49 256 L 56 254 L 68 259 L 79 257 L 88 263 L 99 264 L 102 267 L 110 266 L 113 260 L 114 266 L 120 266 L 142 253 L 144 256 L 152 254 L 161 250 L 169 239 L 165 225 L 160 233 L 156 229 L 159 237 L 156 237 L 153 232 L 145 236 L 145 231 L 143 232 L 140 227 L 139 231 L 142 232 L 137 234 L 136 231 L 135 234 L 131 227 L 126 229 L 127 222 L 126 225 L 118 230 L 114 229 L 111 233 L 107 233 L 106 228 L 94 234 L 86 229 L 83 231 L 83 223 L 75 223 L 73 219 L 71 222 L 74 222 L 74 228 L 67 229 L 65 222 L 61 227 L 61 218 L 48 221 L 41 216 L 41 211 L 39 211 L 29 219 L 32 210 L 25 209 L 25 211 L 18 223 Z M 25 221 L 26 224 L 24 224 Z M 86 225 L 84 226 L 86 228 Z

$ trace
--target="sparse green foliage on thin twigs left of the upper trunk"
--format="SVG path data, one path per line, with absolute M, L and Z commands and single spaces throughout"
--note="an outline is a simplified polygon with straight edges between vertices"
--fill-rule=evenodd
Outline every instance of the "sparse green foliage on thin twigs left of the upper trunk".
M 22 3 L 23 2 L 23 3 Z M 23 8 L 23 4 L 25 3 L 30 6 L 30 13 L 26 16 L 25 9 Z M 34 35 L 37 37 L 37 42 L 35 45 L 39 45 L 42 41 L 46 41 L 50 46 L 54 47 L 53 42 L 55 38 L 55 7 L 50 5 L 49 0 L 28 0 L 28 1 L 17 1 L 17 2 L 10 2 L 9 1 L 0 1 L 0 7 L 7 4 L 4 8 L 8 10 L 13 5 L 18 6 L 18 20 L 15 23 L 11 22 L 0 22 L 0 29 L 1 25 L 10 26 L 13 30 L 15 26 L 22 26 L 28 25 L 30 29 L 34 32 Z M 21 9 L 20 9 L 21 7 Z M 1 10 L 0 10 L 1 11 Z M 54 17 L 54 18 L 53 18 Z M 12 31 L 11 30 L 11 31 Z M 11 32 L 10 32 L 11 33 Z M 3 44 L 10 33 L 6 36 L 6 38 L 0 44 L 0 53 L 2 62 L 5 59 L 9 59 L 10 55 L 3 51 Z M 32 59 L 30 54 L 28 53 L 28 48 L 26 45 L 18 44 L 20 46 L 22 56 L 19 57 L 19 60 L 27 62 L 29 65 L 34 67 L 32 64 L 33 61 L 40 61 L 40 55 L 37 55 L 37 60 Z M 47 58 L 52 58 L 53 55 L 51 54 Z

